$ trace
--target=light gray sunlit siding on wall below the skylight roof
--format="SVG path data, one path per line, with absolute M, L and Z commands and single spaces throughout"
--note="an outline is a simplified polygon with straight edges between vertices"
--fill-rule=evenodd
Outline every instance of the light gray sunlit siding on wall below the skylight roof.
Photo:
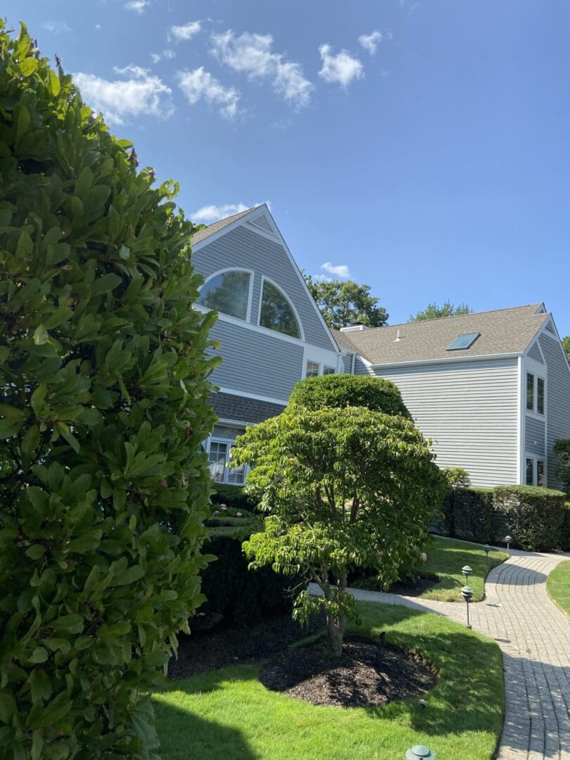
M 366 371 L 362 362 L 357 372 Z M 439 467 L 464 467 L 473 486 L 518 483 L 516 359 L 375 368 L 400 388 Z

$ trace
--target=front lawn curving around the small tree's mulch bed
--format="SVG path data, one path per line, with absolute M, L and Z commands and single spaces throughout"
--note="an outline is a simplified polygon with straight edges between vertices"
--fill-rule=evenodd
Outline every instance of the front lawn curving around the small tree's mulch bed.
M 173 682 L 154 695 L 163 760 L 401 760 L 426 744 L 445 760 L 489 760 L 502 725 L 502 660 L 494 641 L 430 613 L 359 603 L 359 632 L 422 652 L 439 682 L 383 708 L 315 707 L 270 692 L 255 665 Z M 353 629 L 356 629 L 353 626 Z

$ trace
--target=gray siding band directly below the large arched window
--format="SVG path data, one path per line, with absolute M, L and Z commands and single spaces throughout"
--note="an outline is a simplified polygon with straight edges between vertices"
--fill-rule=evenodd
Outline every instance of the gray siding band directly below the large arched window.
M 302 346 L 222 320 L 211 328 L 210 336 L 222 344 L 214 352 L 223 357 L 211 375 L 215 385 L 287 404 L 293 385 L 301 379 Z

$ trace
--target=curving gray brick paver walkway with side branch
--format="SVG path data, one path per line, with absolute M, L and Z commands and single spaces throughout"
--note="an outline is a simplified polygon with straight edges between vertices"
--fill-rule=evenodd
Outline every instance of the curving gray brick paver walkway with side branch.
M 497 760 L 570 760 L 570 621 L 546 594 L 568 556 L 513 552 L 470 606 L 473 629 L 494 638 L 505 670 L 505 725 Z M 353 589 L 357 599 L 404 604 L 465 622 L 465 605 Z

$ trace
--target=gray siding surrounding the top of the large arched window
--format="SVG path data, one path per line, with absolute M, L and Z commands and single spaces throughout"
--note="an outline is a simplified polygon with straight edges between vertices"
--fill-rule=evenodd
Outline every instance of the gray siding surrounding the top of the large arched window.
M 261 275 L 276 283 L 295 306 L 305 340 L 313 346 L 334 350 L 334 344 L 318 317 L 318 310 L 291 265 L 283 245 L 243 226 L 206 243 L 192 253 L 195 268 L 209 277 L 220 269 L 237 267 L 255 272 L 251 321 L 258 324 Z

